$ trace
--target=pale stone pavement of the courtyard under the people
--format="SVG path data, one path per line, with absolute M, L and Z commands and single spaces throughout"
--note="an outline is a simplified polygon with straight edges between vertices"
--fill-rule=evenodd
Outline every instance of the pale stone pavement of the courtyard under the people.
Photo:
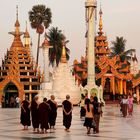
M 123 118 L 117 105 L 103 108 L 99 134 L 86 134 L 83 120 L 79 118 L 79 107 L 74 107 L 70 132 L 62 125 L 62 109 L 58 109 L 55 133 L 34 134 L 32 127 L 23 131 L 19 123 L 20 109 L 0 108 L 0 140 L 140 140 L 140 105 L 134 106 L 134 115 Z

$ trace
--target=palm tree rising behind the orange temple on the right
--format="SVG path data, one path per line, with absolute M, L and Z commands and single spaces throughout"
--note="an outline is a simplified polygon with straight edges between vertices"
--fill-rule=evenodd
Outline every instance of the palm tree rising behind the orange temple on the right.
M 112 41 L 111 47 L 111 57 L 119 56 L 121 61 L 130 60 L 132 52 L 135 52 L 135 49 L 126 50 L 126 39 L 123 37 L 116 37 L 115 41 Z

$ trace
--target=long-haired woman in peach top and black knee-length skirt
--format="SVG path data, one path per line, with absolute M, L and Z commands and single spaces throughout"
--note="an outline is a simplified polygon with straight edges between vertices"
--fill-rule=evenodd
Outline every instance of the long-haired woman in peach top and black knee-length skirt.
M 93 127 L 93 105 L 90 102 L 90 99 L 85 100 L 85 110 L 86 110 L 86 116 L 85 116 L 85 122 L 84 126 L 87 128 L 87 134 L 90 134 L 90 130 Z

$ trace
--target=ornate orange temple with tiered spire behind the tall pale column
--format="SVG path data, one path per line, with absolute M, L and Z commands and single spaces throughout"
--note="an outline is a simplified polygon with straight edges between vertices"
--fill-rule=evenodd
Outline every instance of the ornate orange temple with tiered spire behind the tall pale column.
M 103 12 L 100 9 L 99 29 L 95 37 L 95 72 L 96 84 L 102 86 L 103 96 L 107 101 L 118 99 L 118 95 L 132 94 L 132 84 L 138 84 L 133 80 L 134 74 L 136 75 L 137 73 L 138 75 L 139 71 L 135 55 L 132 57 L 133 63 L 131 64 L 127 60 L 121 61 L 119 56 L 111 57 L 107 37 L 103 32 L 102 14 Z M 73 65 L 75 80 L 79 85 L 85 86 L 87 79 L 87 53 L 85 57 L 81 57 L 81 62 L 74 60 Z

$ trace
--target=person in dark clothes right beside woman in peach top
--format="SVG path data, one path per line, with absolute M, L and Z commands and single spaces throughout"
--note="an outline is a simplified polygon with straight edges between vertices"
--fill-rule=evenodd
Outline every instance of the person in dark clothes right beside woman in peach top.
M 94 96 L 94 121 L 96 123 L 96 128 L 93 130 L 94 133 L 99 133 L 99 123 L 100 123 L 100 117 L 102 116 L 102 106 L 98 102 L 97 96 Z

